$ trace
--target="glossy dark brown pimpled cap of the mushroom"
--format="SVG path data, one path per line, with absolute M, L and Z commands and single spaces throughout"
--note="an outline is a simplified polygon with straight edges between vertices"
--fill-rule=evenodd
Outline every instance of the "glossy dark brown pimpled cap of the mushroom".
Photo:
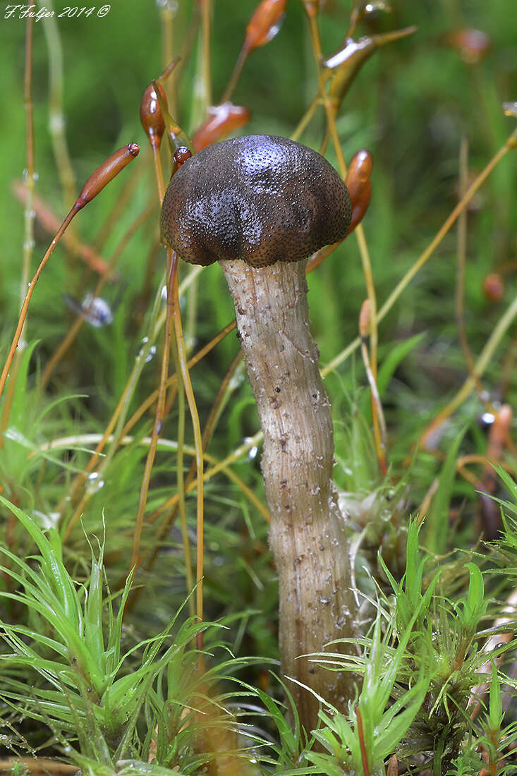
M 216 143 L 173 176 L 161 208 L 168 244 L 191 264 L 298 262 L 345 237 L 345 183 L 321 154 L 285 137 Z

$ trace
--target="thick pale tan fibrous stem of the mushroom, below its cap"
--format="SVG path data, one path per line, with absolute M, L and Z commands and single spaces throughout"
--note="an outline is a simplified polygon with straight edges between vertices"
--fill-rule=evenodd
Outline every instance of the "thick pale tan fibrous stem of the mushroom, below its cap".
M 354 636 L 349 547 L 332 469 L 331 407 L 311 336 L 306 262 L 252 268 L 221 261 L 264 432 L 262 474 L 271 513 L 269 543 L 279 574 L 282 671 L 338 708 L 352 696 L 351 674 L 307 658 L 332 639 Z M 333 645 L 331 651 L 345 651 Z M 318 702 L 290 683 L 300 721 L 317 725 Z

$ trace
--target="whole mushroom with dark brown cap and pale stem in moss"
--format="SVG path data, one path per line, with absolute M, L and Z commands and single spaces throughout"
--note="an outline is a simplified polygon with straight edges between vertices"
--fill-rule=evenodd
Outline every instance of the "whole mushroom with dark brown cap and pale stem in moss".
M 304 259 L 341 240 L 351 215 L 348 189 L 326 159 L 270 135 L 200 151 L 173 176 L 161 210 L 168 244 L 186 262 L 219 261 L 234 300 L 264 433 L 283 674 L 338 707 L 352 694 L 347 676 L 300 658 L 353 636 L 355 611 L 345 519 L 332 479 L 331 407 L 309 327 Z M 290 689 L 302 724 L 312 729 L 317 698 L 300 684 Z

